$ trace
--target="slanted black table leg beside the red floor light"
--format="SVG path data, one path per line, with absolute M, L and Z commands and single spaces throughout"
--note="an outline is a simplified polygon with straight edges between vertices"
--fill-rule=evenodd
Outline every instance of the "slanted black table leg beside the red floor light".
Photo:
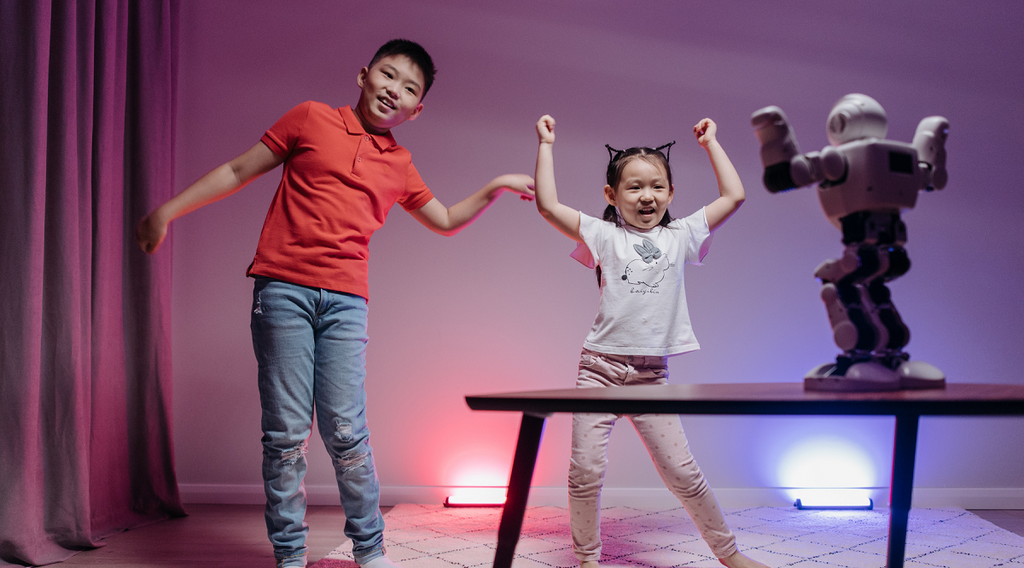
M 529 496 L 529 482 L 534 479 L 537 451 L 541 447 L 546 417 L 523 412 L 519 427 L 519 442 L 515 446 L 512 461 L 512 475 L 509 476 L 509 491 L 502 509 L 502 522 L 498 525 L 498 550 L 495 552 L 495 568 L 511 568 L 515 545 L 522 530 L 522 517 L 526 513 L 526 498 Z

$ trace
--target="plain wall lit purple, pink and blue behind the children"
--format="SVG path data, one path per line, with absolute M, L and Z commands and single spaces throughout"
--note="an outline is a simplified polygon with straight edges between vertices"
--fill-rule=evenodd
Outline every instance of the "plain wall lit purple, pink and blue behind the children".
M 445 205 L 498 174 L 532 174 L 534 124 L 548 113 L 558 121 L 564 203 L 603 209 L 604 143 L 675 139 L 672 210 L 685 215 L 717 195 L 690 134 L 708 116 L 748 201 L 706 265 L 687 272 L 702 350 L 672 359 L 672 380 L 798 381 L 838 351 L 812 272 L 840 253 L 840 235 L 814 191 L 764 190 L 750 116 L 778 104 L 802 150 L 820 149 L 831 104 L 863 92 L 885 106 L 889 138 L 909 141 L 929 115 L 951 123 L 947 188 L 904 215 L 913 268 L 891 288 L 912 332 L 908 351 L 950 381 L 1020 382 L 1024 192 L 1013 164 L 1024 148 L 1016 41 L 1024 15 L 1016 4 L 706 4 L 185 2 L 178 186 L 251 146 L 298 102 L 354 103 L 356 73 L 393 37 L 422 43 L 439 69 L 424 114 L 394 133 Z M 245 268 L 279 178 L 272 172 L 173 229 L 175 442 L 186 499 L 259 499 Z M 573 385 L 598 291 L 571 250 L 531 204 L 510 195 L 453 238 L 393 210 L 374 237 L 370 278 L 369 412 L 385 501 L 473 483 L 472 472 L 507 479 L 517 418 L 471 412 L 462 396 Z M 820 434 L 861 448 L 874 474 L 867 483 L 887 484 L 891 419 L 686 418 L 684 426 L 727 504 L 764 500 L 758 490 L 784 484 L 781 456 Z M 558 503 L 568 429 L 567 417 L 550 422 L 535 477 Z M 663 487 L 631 430 L 616 429 L 607 486 Z M 1024 507 L 1024 452 L 1006 443 L 1022 438 L 1019 420 L 923 420 L 915 483 L 934 491 L 918 496 Z M 318 440 L 310 448 L 317 500 L 333 494 L 333 472 Z

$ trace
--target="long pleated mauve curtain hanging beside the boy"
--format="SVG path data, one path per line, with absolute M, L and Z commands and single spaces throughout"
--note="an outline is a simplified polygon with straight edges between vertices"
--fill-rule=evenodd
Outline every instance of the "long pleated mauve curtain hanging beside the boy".
M 0 564 L 183 515 L 171 444 L 177 0 L 0 0 Z

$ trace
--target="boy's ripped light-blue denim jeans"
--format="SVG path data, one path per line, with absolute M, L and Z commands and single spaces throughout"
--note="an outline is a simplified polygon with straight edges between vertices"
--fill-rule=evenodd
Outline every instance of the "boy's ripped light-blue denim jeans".
M 281 566 L 304 566 L 306 442 L 316 426 L 334 463 L 345 535 L 366 564 L 384 555 L 384 518 L 367 426 L 367 301 L 257 277 L 253 350 L 263 409 L 266 528 Z

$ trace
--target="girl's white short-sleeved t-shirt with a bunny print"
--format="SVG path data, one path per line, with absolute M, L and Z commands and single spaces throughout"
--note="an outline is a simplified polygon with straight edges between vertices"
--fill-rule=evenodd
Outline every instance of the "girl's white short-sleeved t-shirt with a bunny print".
M 703 208 L 640 230 L 580 214 L 572 258 L 601 266 L 601 303 L 584 347 L 613 355 L 678 355 L 700 348 L 690 326 L 683 265 L 699 265 L 712 234 Z

